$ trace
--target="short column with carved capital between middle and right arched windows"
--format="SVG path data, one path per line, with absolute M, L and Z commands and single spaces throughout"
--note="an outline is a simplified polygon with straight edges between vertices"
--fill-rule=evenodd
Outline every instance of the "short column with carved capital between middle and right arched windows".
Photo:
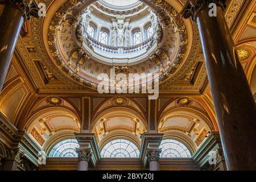
M 159 171 L 159 157 L 161 149 L 147 148 L 146 156 L 148 158 L 150 171 Z

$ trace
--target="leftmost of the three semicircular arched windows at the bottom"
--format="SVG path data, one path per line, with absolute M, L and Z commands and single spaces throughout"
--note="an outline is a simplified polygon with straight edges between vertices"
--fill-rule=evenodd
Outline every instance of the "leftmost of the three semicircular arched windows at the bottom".
M 49 153 L 52 158 L 77 158 L 76 148 L 79 144 L 76 139 L 65 139 L 57 143 Z

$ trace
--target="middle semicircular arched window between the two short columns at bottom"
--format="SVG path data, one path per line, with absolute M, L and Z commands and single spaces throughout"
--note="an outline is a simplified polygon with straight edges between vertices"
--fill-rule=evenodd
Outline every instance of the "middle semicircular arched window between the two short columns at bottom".
M 117 139 L 104 146 L 101 156 L 102 158 L 138 158 L 139 150 L 129 140 Z

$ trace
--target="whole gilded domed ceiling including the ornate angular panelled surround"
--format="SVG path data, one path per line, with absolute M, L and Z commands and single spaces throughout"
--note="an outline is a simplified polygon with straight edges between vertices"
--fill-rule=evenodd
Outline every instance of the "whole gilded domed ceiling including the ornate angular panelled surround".
M 204 89 L 207 72 L 199 32 L 191 19 L 179 16 L 182 2 L 44 3 L 46 16 L 31 19 L 32 39 L 20 39 L 17 44 L 38 90 L 93 93 L 100 82 L 97 77 L 109 75 L 111 69 L 125 75 L 158 73 L 160 93 L 201 93 Z M 97 26 L 95 37 L 88 36 L 90 23 Z M 146 32 L 149 25 L 150 37 Z M 134 43 L 138 28 L 141 42 Z M 99 39 L 103 30 L 109 31 L 106 44 Z

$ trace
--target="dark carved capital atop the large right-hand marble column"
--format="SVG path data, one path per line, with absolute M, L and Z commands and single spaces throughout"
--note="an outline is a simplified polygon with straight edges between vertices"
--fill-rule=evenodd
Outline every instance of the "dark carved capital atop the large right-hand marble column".
M 209 7 L 210 3 L 215 3 L 216 6 L 220 6 L 225 10 L 225 0 L 187 0 L 181 15 L 185 19 L 192 16 L 192 19 L 195 20 L 197 13 L 205 7 Z

